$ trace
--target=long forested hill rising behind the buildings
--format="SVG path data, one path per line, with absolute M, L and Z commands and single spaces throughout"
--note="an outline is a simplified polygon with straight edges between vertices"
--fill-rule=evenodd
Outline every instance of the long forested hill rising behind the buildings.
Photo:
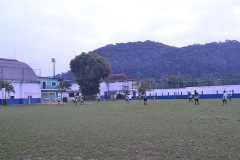
M 110 63 L 112 74 L 123 72 L 138 78 L 201 78 L 240 72 L 240 42 L 236 40 L 181 48 L 153 41 L 117 43 L 90 53 L 103 56 Z

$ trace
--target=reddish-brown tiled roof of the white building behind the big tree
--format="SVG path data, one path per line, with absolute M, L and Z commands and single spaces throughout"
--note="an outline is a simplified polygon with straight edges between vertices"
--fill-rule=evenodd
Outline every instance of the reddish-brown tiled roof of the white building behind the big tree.
M 139 79 L 125 74 L 110 74 L 102 81 L 139 81 Z

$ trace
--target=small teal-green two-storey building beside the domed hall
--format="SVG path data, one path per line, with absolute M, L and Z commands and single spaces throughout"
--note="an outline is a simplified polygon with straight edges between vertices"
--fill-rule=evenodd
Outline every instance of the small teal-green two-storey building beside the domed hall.
M 38 77 L 41 86 L 41 100 L 55 101 L 58 97 L 58 78 Z

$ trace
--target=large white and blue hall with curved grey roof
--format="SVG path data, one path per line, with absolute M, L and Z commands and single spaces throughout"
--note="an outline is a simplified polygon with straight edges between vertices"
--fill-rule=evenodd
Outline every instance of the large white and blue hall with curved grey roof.
M 0 81 L 10 82 L 15 93 L 7 95 L 8 104 L 41 103 L 40 83 L 33 69 L 15 59 L 0 58 Z M 4 97 L 0 90 L 0 105 Z

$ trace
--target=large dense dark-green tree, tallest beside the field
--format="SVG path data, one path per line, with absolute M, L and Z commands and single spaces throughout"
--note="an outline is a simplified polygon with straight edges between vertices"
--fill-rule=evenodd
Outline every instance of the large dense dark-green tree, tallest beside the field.
M 109 63 L 103 57 L 84 52 L 70 61 L 70 68 L 83 95 L 99 93 L 101 79 L 111 72 Z

